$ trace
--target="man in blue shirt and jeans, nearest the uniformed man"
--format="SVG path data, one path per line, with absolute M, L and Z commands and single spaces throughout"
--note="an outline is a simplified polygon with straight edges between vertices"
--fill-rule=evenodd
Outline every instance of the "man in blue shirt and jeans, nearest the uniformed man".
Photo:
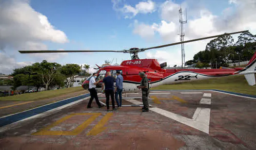
M 122 91 L 123 91 L 123 76 L 120 74 L 120 71 L 117 71 L 115 98 L 118 103 L 118 108 L 122 107 Z M 119 95 L 119 102 L 118 102 L 118 95 Z

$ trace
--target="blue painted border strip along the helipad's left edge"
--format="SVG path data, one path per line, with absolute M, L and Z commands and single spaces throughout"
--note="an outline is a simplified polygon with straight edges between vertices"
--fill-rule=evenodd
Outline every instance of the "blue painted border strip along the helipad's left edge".
M 87 98 L 89 96 L 90 96 L 90 93 L 87 93 L 87 94 L 80 95 L 80 96 L 77 96 L 77 97 L 74 97 L 74 98 L 69 98 L 69 99 L 66 99 L 66 100 L 61 100 L 61 101 L 58 101 L 58 102 L 55 102 L 55 103 L 51 103 L 49 105 L 44 105 L 44 106 L 41 106 L 41 107 L 38 107 L 38 108 L 34 108 L 34 109 L 31 109 L 31 110 L 28 110 L 28 111 L 25 111 L 25 112 L 20 112 L 18 114 L 14 114 L 14 115 L 11 115 L 11 116 L 2 117 L 2 118 L 0 118 L 0 127 L 11 124 L 11 123 L 16 122 L 16 121 L 20 121 L 20 120 L 25 119 L 27 117 L 38 115 L 40 113 L 43 113 L 43 112 L 46 112 L 48 110 L 57 108 L 59 106 L 63 106 L 65 104 Z

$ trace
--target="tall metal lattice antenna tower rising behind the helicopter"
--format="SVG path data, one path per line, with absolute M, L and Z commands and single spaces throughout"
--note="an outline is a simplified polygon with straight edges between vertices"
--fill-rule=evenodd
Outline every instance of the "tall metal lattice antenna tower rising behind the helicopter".
M 178 9 L 178 13 L 179 13 L 179 24 L 180 24 L 180 27 L 179 27 L 179 38 L 180 38 L 180 41 L 183 42 L 184 41 L 184 36 L 185 36 L 185 33 L 183 32 L 183 23 L 187 23 L 187 9 L 186 9 L 186 20 L 183 20 L 182 18 L 182 8 L 180 7 Z M 184 50 L 184 43 L 181 44 L 181 60 L 182 60 L 182 64 L 181 64 L 181 67 L 185 67 L 185 50 Z M 184 64 L 184 66 L 183 66 Z

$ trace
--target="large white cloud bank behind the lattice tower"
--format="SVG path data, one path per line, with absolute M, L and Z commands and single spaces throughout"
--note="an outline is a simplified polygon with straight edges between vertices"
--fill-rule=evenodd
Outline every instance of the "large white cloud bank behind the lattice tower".
M 196 3 L 195 1 L 193 2 Z M 249 30 L 251 33 L 255 34 L 256 0 L 230 0 L 229 2 L 235 5 L 223 9 L 221 16 L 217 16 L 205 7 L 202 7 L 202 5 L 198 7 L 195 5 L 193 6 L 191 0 L 184 1 L 181 6 L 186 6 L 189 10 L 188 14 L 192 14 L 192 16 L 188 18 L 188 23 L 184 24 L 184 39 L 189 40 L 243 30 Z M 152 31 L 150 27 L 153 27 L 154 31 L 159 33 L 164 41 L 177 42 L 179 41 L 179 35 L 177 35 L 179 33 L 178 8 L 179 4 L 167 0 L 161 4 L 159 10 L 160 23 L 144 24 L 143 22 L 140 22 L 140 24 L 143 25 L 143 27 L 148 27 L 150 31 Z M 136 26 L 134 30 L 136 30 Z M 156 33 L 154 33 L 154 35 L 156 35 Z M 145 32 L 139 33 L 141 37 L 147 37 L 146 34 L 147 33 Z M 236 39 L 237 35 L 238 34 L 234 34 L 232 36 Z M 151 36 L 151 38 L 153 37 Z M 210 40 L 212 39 L 186 43 L 185 60 L 193 59 L 194 54 L 200 50 L 204 50 L 206 44 L 210 42 Z M 179 65 L 181 64 L 180 47 L 176 47 L 176 51 L 174 52 L 168 51 L 166 53 L 161 50 L 154 53 L 146 52 L 146 56 L 147 58 L 157 58 L 161 62 L 169 62 L 169 64 L 172 65 L 175 65 L 177 62 L 179 62 Z M 173 57 L 177 56 L 177 52 L 178 57 Z

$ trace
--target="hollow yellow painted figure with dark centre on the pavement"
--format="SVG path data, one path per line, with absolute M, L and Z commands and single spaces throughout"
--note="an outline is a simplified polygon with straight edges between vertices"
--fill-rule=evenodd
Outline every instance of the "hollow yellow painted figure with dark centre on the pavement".
M 81 133 L 92 121 L 94 121 L 101 113 L 79 113 L 79 114 L 71 114 L 69 116 L 63 117 L 59 120 L 57 120 L 56 122 L 54 122 L 53 124 L 43 128 L 42 130 L 40 130 L 39 132 L 36 133 L 32 133 L 32 135 L 77 135 L 79 133 Z M 82 124 L 80 124 L 76 129 L 74 129 L 73 131 L 49 131 L 51 128 L 57 126 L 59 123 L 77 116 L 77 115 L 92 115 L 89 119 L 87 119 L 86 121 L 84 121 Z

